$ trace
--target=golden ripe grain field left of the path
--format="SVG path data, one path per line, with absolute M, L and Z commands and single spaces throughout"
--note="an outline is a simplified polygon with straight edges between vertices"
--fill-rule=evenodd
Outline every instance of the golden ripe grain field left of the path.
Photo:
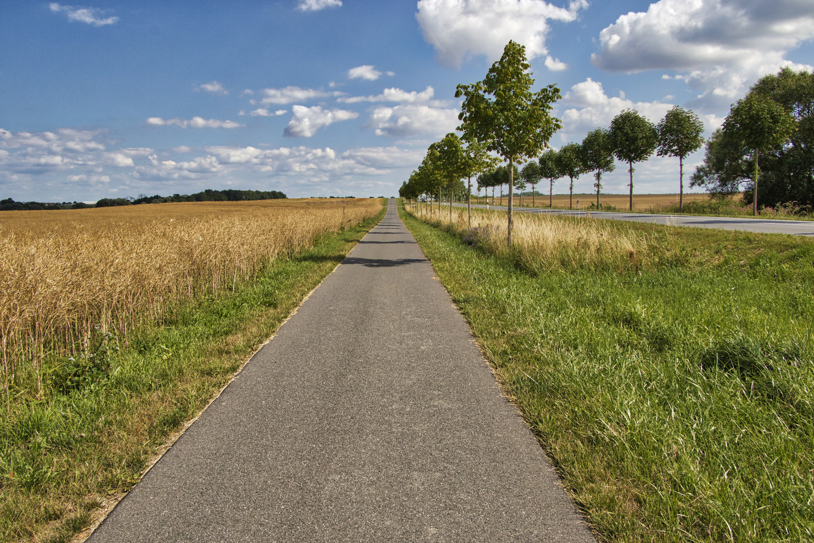
M 9 381 L 93 330 L 123 336 L 174 304 L 234 290 L 379 199 L 142 204 L 0 214 L 0 348 Z

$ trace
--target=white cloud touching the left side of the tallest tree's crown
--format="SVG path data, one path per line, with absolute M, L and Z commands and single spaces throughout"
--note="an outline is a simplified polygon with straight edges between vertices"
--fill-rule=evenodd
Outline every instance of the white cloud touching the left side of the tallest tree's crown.
M 456 109 L 407 104 L 396 107 L 376 107 L 365 123 L 377 136 L 409 137 L 419 134 L 443 136 L 459 124 Z

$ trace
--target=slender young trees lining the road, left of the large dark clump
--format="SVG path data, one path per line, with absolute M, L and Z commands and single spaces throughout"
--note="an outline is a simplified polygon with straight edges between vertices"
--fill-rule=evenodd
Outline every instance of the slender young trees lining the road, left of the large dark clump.
M 456 98 L 464 97 L 457 130 L 462 137 L 450 133 L 427 149 L 422 164 L 410 174 L 399 191 L 404 198 L 449 195 L 452 200 L 462 178 L 466 178 L 467 208 L 471 213 L 471 182 L 476 177 L 479 190 L 489 186 L 507 185 L 509 188 L 508 239 L 511 244 L 514 188 L 522 190 L 549 180 L 549 205 L 552 204 L 554 182 L 569 177 L 571 206 L 573 207 L 574 179 L 593 172 L 598 195 L 602 190 L 602 173 L 615 168 L 614 157 L 628 163 L 630 173 L 630 208 L 632 209 L 633 164 L 646 160 L 659 148 L 659 155 L 679 158 L 680 185 L 683 204 L 683 160 L 690 152 L 702 146 L 703 125 L 698 116 L 681 107 L 674 107 L 659 123 L 635 110 L 619 113 L 610 129 L 590 132 L 582 143 L 568 143 L 559 151 L 549 148 L 549 140 L 561 121 L 551 116 L 551 104 L 561 99 L 556 85 L 547 85 L 532 93 L 534 83 L 525 47 L 509 42 L 501 59 L 492 64 L 483 81 L 472 85 L 457 85 Z M 545 152 L 543 152 L 545 151 Z M 494 156 L 497 155 L 497 156 Z M 539 158 L 538 158 L 539 157 Z M 518 164 L 529 161 L 520 171 Z M 508 162 L 498 167 L 500 162 Z M 431 198 L 423 199 L 431 205 Z

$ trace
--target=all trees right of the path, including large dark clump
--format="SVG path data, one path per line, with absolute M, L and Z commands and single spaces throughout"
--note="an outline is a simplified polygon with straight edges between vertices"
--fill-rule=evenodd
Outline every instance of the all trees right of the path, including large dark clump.
M 432 143 L 422 164 L 402 184 L 400 195 L 409 199 L 437 195 L 440 211 L 443 195 L 449 194 L 451 216 L 453 194 L 462 188 L 463 178 L 467 180 L 468 208 L 472 177 L 477 177 L 479 188 L 508 185 L 507 241 L 511 244 L 514 188 L 523 190 L 526 184 L 532 185 L 533 195 L 537 182 L 548 179 L 551 205 L 554 181 L 569 177 L 573 207 L 574 179 L 593 172 L 599 207 L 602 173 L 613 171 L 617 159 L 628 164 L 632 210 L 633 164 L 657 152 L 679 159 L 679 205 L 683 211 L 684 160 L 704 143 L 703 124 L 694 112 L 676 106 L 654 125 L 639 112 L 628 109 L 615 116 L 610 128 L 595 129 L 583 142 L 571 142 L 554 151 L 549 148 L 549 140 L 562 125 L 550 115 L 551 104 L 562 96 L 556 85 L 532 93 L 534 80 L 528 72 L 530 67 L 525 47 L 511 41 L 483 81 L 457 85 L 456 98 L 464 97 L 458 115 L 462 124 L 457 127 L 462 137 L 450 133 L 440 142 Z M 764 77 L 745 99 L 733 104 L 723 128 L 707 142 L 707 159 L 694 173 L 691 186 L 706 186 L 713 195 L 731 195 L 742 183 L 750 182 L 747 193 L 751 191 L 753 211 L 757 214 L 758 164 L 762 154 L 764 161 L 770 162 L 768 174 L 774 194 L 779 193 L 778 187 L 783 182 L 786 195 L 794 192 L 789 190 L 790 186 L 798 189 L 804 186 L 810 194 L 814 186 L 814 146 L 809 145 L 814 135 L 811 77 L 807 72 L 785 68 L 777 76 Z M 519 170 L 517 164 L 529 159 L 537 160 Z M 508 164 L 499 169 L 500 162 Z M 754 173 L 752 177 L 748 175 L 749 169 Z

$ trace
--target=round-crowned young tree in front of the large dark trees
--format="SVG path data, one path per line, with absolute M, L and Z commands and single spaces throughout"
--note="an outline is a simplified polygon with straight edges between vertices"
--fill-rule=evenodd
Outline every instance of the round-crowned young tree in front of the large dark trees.
M 779 103 L 765 94 L 750 93 L 745 99 L 740 99 L 729 111 L 724 120 L 724 133 L 754 152 L 755 182 L 752 192 L 752 214 L 758 214 L 758 160 L 760 150 L 779 147 L 797 126 L 794 117 Z

